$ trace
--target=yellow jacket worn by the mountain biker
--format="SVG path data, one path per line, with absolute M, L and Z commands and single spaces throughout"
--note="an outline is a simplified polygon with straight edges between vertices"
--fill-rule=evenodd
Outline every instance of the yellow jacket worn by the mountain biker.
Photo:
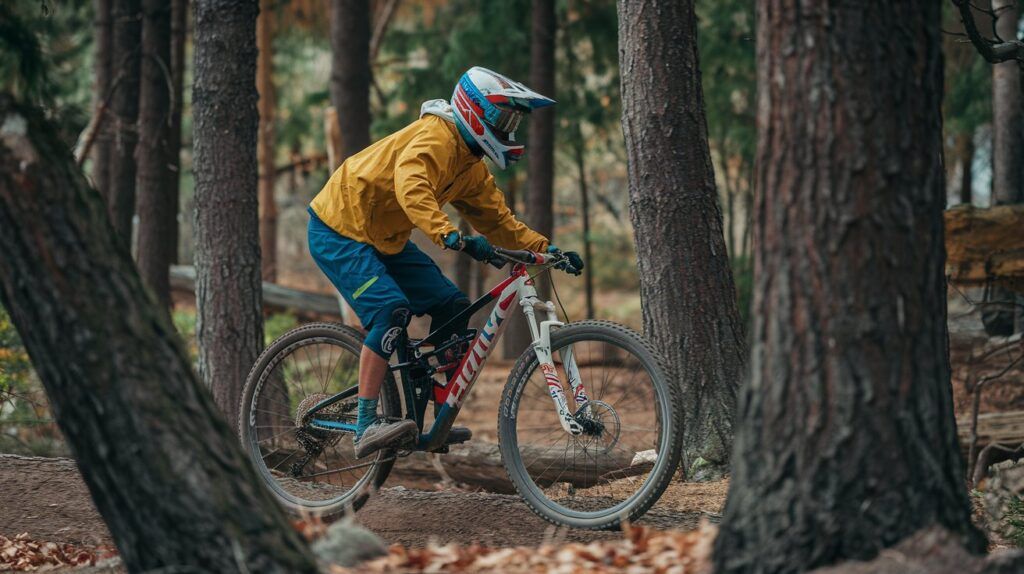
M 512 215 L 484 163 L 458 129 L 425 115 L 348 158 L 310 207 L 342 235 L 385 254 L 401 251 L 413 227 L 438 246 L 457 231 L 446 203 L 496 246 L 544 251 L 548 239 Z

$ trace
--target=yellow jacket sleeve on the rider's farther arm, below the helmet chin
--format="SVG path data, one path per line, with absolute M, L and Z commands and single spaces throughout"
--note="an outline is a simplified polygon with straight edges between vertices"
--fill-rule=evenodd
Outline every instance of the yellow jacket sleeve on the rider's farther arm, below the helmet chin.
M 482 171 L 483 173 L 479 173 Z M 452 205 L 459 210 L 469 224 L 500 248 L 544 251 L 548 249 L 548 238 L 534 231 L 512 215 L 505 204 L 505 194 L 495 184 L 495 176 L 487 171 L 483 162 L 477 164 L 474 173 L 480 181 Z

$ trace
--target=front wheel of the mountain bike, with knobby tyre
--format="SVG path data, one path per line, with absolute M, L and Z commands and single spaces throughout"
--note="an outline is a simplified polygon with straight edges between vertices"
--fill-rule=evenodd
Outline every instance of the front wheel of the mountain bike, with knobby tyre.
M 509 374 L 498 416 L 509 479 L 535 513 L 558 525 L 603 530 L 637 520 L 679 465 L 682 406 L 675 381 L 650 343 L 609 321 L 559 328 L 551 351 L 584 430 L 563 430 L 528 349 Z M 585 397 L 573 396 L 566 366 L 579 373 Z

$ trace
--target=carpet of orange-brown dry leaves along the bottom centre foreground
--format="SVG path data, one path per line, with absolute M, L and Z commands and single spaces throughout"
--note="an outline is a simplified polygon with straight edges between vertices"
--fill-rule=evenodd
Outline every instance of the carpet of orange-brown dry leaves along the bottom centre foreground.
M 711 572 L 712 544 L 718 530 L 707 521 L 690 532 L 658 531 L 643 526 L 627 526 L 624 530 L 626 536 L 617 540 L 544 544 L 537 548 L 488 548 L 476 544 L 406 548 L 394 544 L 387 557 L 360 564 L 355 569 L 335 566 L 331 572 Z

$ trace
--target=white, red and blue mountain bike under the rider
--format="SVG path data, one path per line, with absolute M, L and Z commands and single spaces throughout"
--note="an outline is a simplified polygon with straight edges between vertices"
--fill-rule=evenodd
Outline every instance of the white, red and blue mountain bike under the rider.
M 561 254 L 496 249 L 493 263 L 511 264 L 509 276 L 425 338 L 400 336 L 378 414 L 416 422 L 419 435 L 407 444 L 364 459 L 352 454 L 360 332 L 307 324 L 260 355 L 239 428 L 286 509 L 324 516 L 358 510 L 397 459 L 447 452 L 470 438 L 453 423 L 515 308 L 532 343 L 505 384 L 498 441 L 516 491 L 542 518 L 586 529 L 617 528 L 657 500 L 679 465 L 683 432 L 680 393 L 663 359 L 626 326 L 558 320 L 555 305 L 538 297 L 535 278 L 563 266 Z M 481 329 L 438 336 L 490 303 Z

